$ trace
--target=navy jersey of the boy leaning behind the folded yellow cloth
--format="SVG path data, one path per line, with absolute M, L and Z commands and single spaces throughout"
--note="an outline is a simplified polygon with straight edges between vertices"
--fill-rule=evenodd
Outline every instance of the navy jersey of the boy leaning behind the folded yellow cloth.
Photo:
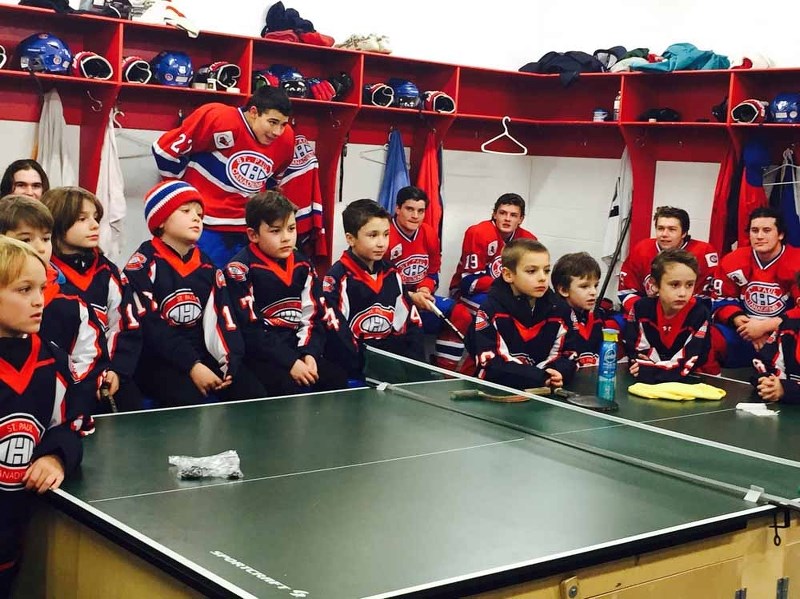
M 680 381 L 705 363 L 711 348 L 710 318 L 705 302 L 696 298 L 671 318 L 657 297 L 640 298 L 628 314 L 624 337 L 628 359 L 639 364 L 637 379 Z

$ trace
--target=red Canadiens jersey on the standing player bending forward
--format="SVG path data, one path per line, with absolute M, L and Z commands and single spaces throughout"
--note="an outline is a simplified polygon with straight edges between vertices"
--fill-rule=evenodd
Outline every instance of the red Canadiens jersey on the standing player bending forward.
M 265 146 L 241 109 L 217 103 L 199 107 L 153 144 L 161 176 L 182 179 L 203 196 L 205 226 L 242 233 L 247 198 L 275 187 L 293 154 L 291 127 Z

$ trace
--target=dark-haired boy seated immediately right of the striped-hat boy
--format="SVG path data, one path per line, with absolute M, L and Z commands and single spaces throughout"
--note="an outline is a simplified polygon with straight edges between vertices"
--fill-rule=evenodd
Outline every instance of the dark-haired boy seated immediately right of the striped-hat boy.
M 347 386 L 344 371 L 323 356 L 327 331 L 322 286 L 297 252 L 297 207 L 277 191 L 245 207 L 250 244 L 225 269 L 245 344 L 245 364 L 270 395 Z

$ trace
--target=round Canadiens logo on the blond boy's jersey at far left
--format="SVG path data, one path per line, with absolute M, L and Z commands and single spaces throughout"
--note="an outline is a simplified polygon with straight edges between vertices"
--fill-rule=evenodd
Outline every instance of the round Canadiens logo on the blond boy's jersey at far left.
M 22 477 L 43 434 L 44 427 L 30 414 L 9 414 L 0 420 L 0 489 L 22 488 Z

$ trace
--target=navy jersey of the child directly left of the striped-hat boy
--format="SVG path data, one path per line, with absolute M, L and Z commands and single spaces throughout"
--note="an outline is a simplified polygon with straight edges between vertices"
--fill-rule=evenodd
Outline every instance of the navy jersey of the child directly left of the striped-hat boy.
M 139 360 L 142 339 L 133 294 L 125 276 L 97 250 L 53 256 L 52 264 L 94 310 L 103 327 L 111 369 L 131 376 Z

